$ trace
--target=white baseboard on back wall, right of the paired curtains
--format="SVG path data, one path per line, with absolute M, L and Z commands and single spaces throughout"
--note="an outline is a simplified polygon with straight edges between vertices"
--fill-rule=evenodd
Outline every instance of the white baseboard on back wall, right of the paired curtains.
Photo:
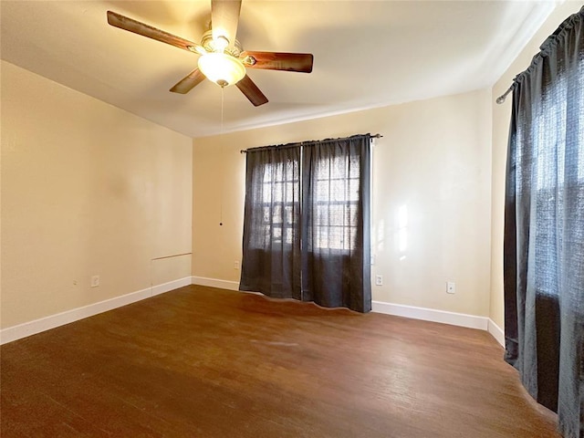
M 433 308 L 416 308 L 414 306 L 384 303 L 382 301 L 373 301 L 371 304 L 371 311 L 396 317 L 422 319 L 424 321 L 441 322 L 452 326 L 478 328 L 479 330 L 486 330 L 488 328 L 489 318 L 486 317 L 435 310 Z

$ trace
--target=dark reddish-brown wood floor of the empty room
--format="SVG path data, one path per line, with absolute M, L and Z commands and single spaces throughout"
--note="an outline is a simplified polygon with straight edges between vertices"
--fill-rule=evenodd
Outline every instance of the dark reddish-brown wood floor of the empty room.
M 1 435 L 550 438 L 486 332 L 183 287 L 1 349 Z

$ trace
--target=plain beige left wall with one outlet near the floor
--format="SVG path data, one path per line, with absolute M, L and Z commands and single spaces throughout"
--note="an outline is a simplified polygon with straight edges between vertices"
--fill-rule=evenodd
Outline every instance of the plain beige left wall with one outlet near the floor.
M 2 62 L 2 327 L 191 275 L 192 140 Z M 90 276 L 100 287 L 89 287 Z

